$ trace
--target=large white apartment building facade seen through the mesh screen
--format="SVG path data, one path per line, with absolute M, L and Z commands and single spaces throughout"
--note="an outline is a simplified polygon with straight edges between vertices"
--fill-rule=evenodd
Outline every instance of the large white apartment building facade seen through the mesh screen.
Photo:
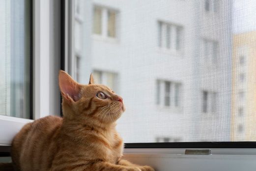
M 230 140 L 230 1 L 77 0 L 74 9 L 74 75 L 87 83 L 93 72 L 123 97 L 125 142 Z

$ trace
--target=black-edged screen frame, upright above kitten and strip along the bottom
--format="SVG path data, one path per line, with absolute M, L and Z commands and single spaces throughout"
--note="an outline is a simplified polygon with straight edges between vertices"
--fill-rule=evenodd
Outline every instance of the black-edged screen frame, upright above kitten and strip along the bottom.
M 70 38 L 72 37 L 72 19 L 74 12 L 72 8 L 74 7 L 74 0 L 64 0 L 61 1 L 61 21 L 62 21 L 62 30 L 61 30 L 61 69 L 69 71 L 72 75 L 72 65 L 68 65 L 67 63 L 72 61 L 72 59 L 68 59 L 72 54 L 72 43 Z M 71 24 L 70 24 L 71 22 Z M 65 27 L 67 26 L 68 27 Z M 61 106 L 61 104 L 60 104 Z M 250 141 L 237 141 L 237 142 L 167 142 L 167 143 L 125 143 L 125 149 L 198 149 L 198 148 L 218 148 L 218 149 L 254 149 L 256 148 L 256 142 Z

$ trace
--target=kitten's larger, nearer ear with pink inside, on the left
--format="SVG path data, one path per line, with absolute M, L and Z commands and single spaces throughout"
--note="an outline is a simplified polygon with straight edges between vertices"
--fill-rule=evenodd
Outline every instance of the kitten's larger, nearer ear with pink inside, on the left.
M 77 102 L 80 97 L 81 85 L 71 78 L 68 73 L 60 70 L 58 75 L 58 84 L 61 95 L 68 101 Z

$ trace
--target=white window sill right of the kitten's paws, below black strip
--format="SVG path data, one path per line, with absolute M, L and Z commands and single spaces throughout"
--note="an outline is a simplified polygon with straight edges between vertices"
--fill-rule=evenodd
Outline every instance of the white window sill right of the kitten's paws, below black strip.
M 156 171 L 255 171 L 256 149 L 212 149 L 211 155 L 185 149 L 125 149 L 124 159 Z

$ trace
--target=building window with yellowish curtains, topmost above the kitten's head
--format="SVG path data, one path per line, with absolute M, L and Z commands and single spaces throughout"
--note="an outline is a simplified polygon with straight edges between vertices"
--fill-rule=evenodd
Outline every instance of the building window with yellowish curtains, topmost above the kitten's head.
M 105 38 L 116 38 L 117 12 L 105 7 L 94 6 L 93 33 Z

